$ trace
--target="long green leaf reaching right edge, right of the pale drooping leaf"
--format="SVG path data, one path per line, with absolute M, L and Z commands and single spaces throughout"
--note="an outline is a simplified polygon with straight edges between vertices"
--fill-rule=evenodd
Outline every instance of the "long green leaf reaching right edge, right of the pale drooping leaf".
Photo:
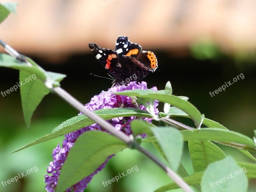
M 237 132 L 219 129 L 203 128 L 181 131 L 184 141 L 188 140 L 210 140 L 228 144 L 230 147 L 240 149 L 251 149 L 255 151 L 256 145 L 251 138 Z

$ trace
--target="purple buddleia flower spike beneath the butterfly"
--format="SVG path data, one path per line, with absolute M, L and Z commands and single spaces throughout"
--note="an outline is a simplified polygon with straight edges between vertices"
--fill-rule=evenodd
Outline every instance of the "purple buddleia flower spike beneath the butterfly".
M 95 95 L 89 103 L 85 105 L 85 108 L 89 109 L 90 111 L 95 111 L 98 109 L 105 109 L 105 108 L 136 108 L 136 105 L 134 101 L 127 96 L 123 95 L 114 95 L 109 92 L 120 92 L 120 91 L 125 91 L 125 90 L 135 90 L 135 89 L 142 89 L 146 90 L 147 89 L 147 83 L 146 82 L 130 82 L 127 85 L 121 85 L 121 86 L 115 86 L 113 88 L 108 89 L 108 92 L 102 91 L 99 95 Z M 157 91 L 156 87 L 151 88 L 154 91 Z M 154 111 L 155 114 L 158 114 L 158 109 L 156 108 L 158 106 L 158 101 L 154 101 Z M 140 106 L 141 110 L 146 110 L 144 106 Z M 82 113 L 80 112 L 79 115 Z M 138 117 L 131 116 L 131 117 L 118 117 L 118 118 L 113 118 L 110 120 L 107 120 L 109 123 L 111 123 L 117 130 L 121 130 L 127 135 L 131 134 L 131 128 L 130 128 L 130 123 L 133 119 L 138 119 Z M 145 121 L 148 121 L 151 123 L 150 118 L 143 118 Z M 77 131 L 68 133 L 65 135 L 65 139 L 63 140 L 62 143 L 62 148 L 60 147 L 60 144 L 53 149 L 52 151 L 52 157 L 53 157 L 53 162 L 50 162 L 50 166 L 48 166 L 47 173 L 52 174 L 48 175 L 46 174 L 44 176 L 45 178 L 45 183 L 47 184 L 45 186 L 46 191 L 48 192 L 54 192 L 54 189 L 57 186 L 57 182 L 59 179 L 60 175 L 60 169 L 62 165 L 65 162 L 65 159 L 68 156 L 68 152 L 70 148 L 74 145 L 76 139 L 81 135 L 83 132 L 86 131 L 91 131 L 91 130 L 102 130 L 104 131 L 98 124 L 92 124 L 90 126 L 84 127 L 82 129 L 79 129 Z M 144 135 L 145 136 L 145 135 Z M 74 192 L 83 192 L 85 188 L 87 188 L 88 183 L 91 182 L 92 177 L 97 174 L 99 171 L 101 171 L 108 160 L 112 158 L 111 155 L 108 157 L 108 159 L 99 166 L 97 170 L 95 170 L 92 174 L 88 175 L 75 185 L 73 185 L 71 188 L 68 188 L 66 191 L 70 192 L 72 189 Z

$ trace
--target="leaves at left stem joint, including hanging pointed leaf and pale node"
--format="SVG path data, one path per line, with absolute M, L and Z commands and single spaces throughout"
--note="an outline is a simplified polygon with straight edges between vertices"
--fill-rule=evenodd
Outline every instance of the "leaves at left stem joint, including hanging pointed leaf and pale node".
M 0 67 L 8 67 L 20 70 L 20 95 L 22 110 L 27 127 L 30 126 L 30 119 L 39 103 L 45 95 L 50 92 L 46 87 L 46 79 L 54 86 L 60 85 L 60 81 L 66 75 L 44 71 L 33 60 L 27 58 L 32 64 L 29 66 L 26 62 L 17 60 L 10 55 L 0 53 Z M 33 76 L 34 78 L 32 78 Z M 25 79 L 28 81 L 25 82 Z

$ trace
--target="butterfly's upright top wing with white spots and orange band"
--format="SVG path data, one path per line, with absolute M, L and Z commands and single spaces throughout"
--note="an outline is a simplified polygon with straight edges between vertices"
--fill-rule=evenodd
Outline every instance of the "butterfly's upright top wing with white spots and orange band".
M 119 36 L 116 40 L 115 50 L 119 54 L 119 57 L 126 55 L 136 58 L 141 51 L 141 46 L 130 42 L 126 36 Z

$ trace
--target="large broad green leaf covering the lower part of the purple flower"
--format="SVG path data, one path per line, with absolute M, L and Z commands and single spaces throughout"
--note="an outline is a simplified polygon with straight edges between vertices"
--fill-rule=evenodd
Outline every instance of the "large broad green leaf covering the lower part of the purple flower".
M 126 148 L 124 141 L 102 131 L 88 131 L 78 137 L 60 171 L 57 192 L 65 191 L 92 174 L 108 156 Z

